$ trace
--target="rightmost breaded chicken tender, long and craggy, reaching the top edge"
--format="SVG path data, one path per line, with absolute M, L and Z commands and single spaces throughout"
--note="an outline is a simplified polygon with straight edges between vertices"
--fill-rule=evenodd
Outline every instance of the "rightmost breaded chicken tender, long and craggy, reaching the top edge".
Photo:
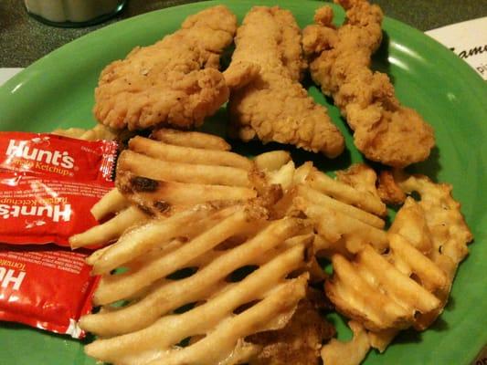
M 346 10 L 343 26 L 333 26 L 333 10 L 324 6 L 316 24 L 303 30 L 313 80 L 333 97 L 365 157 L 395 167 L 426 160 L 435 143 L 432 128 L 400 104 L 386 74 L 370 69 L 382 41 L 381 9 L 365 0 L 335 1 Z

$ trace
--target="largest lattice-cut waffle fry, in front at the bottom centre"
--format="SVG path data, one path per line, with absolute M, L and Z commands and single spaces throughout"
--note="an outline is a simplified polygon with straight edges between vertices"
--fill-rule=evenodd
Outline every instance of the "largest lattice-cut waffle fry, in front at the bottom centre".
M 174 223 L 163 229 L 171 220 Z M 267 221 L 263 208 L 237 205 L 206 211 L 206 215 L 195 214 L 195 210 L 178 213 L 154 220 L 154 224 L 157 235 L 151 233 L 153 225 L 143 224 L 125 234 L 133 235 L 130 239 L 122 235 L 94 260 L 94 267 L 105 273 L 96 293 L 99 303 L 136 298 L 125 307 L 113 310 L 105 306 L 81 319 L 82 328 L 103 338 L 86 347 L 87 354 L 98 360 L 114 364 L 246 362 L 259 346 L 245 338 L 282 328 L 305 296 L 308 276 L 287 278 L 302 272 L 306 264 L 312 225 L 305 220 Z M 174 230 L 172 235 L 167 234 L 169 229 Z M 146 235 L 157 240 L 146 239 L 141 248 L 139 236 Z M 181 235 L 185 240 L 174 241 Z M 147 251 L 148 246 L 153 249 Z M 127 260 L 128 252 L 124 253 L 129 247 L 132 256 Z M 110 274 L 114 265 L 107 266 L 103 257 L 121 253 L 123 259 L 114 262 L 128 270 Z M 256 264 L 257 269 L 241 281 L 230 279 L 241 267 Z M 197 270 L 190 276 L 180 280 L 169 276 L 192 266 Z M 198 305 L 182 314 L 170 314 L 191 303 Z M 192 338 L 189 346 L 178 347 L 187 338 Z

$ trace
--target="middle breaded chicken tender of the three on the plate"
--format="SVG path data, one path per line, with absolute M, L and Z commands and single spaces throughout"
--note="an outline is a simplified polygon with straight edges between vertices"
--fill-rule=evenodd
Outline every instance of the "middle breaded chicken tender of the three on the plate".
M 299 83 L 306 63 L 291 12 L 255 6 L 245 16 L 225 72 L 231 87 L 230 134 L 243 141 L 289 143 L 336 157 L 344 138 Z

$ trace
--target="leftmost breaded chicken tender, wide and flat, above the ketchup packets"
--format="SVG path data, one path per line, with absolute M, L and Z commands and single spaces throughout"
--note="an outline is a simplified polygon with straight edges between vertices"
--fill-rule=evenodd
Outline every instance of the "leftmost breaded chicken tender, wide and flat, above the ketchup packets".
M 219 56 L 233 41 L 237 18 L 227 7 L 189 16 L 174 34 L 136 47 L 101 72 L 95 118 L 114 128 L 199 126 L 228 100 Z

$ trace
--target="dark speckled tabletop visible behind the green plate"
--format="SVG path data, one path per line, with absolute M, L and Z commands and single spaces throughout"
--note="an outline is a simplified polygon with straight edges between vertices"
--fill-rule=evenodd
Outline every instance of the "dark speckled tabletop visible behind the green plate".
M 372 0 L 386 16 L 425 31 L 487 16 L 486 0 Z M 20 0 L 0 1 L 0 68 L 25 68 L 38 58 L 102 26 L 188 0 L 128 0 L 119 16 L 97 26 L 58 28 L 26 14 Z M 258 1 L 256 1 L 258 3 Z M 279 5 L 279 0 L 276 0 Z

